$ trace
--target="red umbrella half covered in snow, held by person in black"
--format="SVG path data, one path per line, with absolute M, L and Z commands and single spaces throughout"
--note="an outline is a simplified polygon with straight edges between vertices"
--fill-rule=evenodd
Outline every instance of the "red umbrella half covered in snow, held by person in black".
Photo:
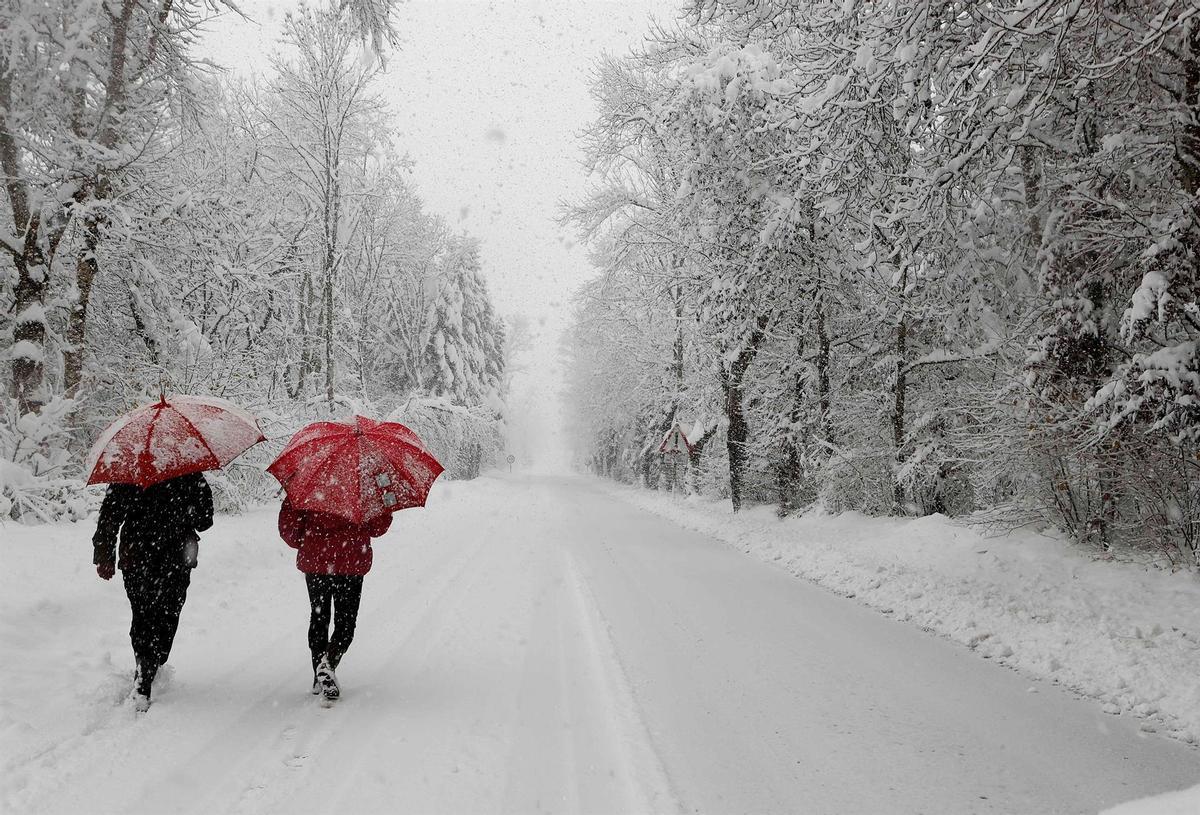
M 266 437 L 258 420 L 216 396 L 163 396 L 127 413 L 88 454 L 88 484 L 137 484 L 220 469 Z

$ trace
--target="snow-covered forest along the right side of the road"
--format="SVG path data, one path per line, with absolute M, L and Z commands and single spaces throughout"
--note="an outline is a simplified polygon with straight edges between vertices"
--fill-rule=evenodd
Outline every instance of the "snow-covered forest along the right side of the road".
M 1194 1 L 692 0 L 592 92 L 592 472 L 1200 565 Z

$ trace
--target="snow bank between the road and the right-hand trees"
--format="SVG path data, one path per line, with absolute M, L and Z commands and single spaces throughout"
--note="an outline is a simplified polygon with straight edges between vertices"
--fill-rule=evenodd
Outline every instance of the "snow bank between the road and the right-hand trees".
M 721 501 L 612 491 L 1106 713 L 1141 717 L 1147 732 L 1200 744 L 1196 575 L 1094 561 L 1033 532 L 985 537 L 940 515 L 779 520 L 768 507 L 733 515 Z

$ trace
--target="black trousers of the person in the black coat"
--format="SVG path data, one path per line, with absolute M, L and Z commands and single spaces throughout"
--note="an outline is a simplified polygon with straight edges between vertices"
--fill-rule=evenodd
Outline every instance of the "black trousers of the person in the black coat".
M 187 600 L 192 570 L 146 569 L 134 567 L 121 571 L 125 594 L 130 598 L 133 621 L 130 642 L 138 660 L 138 672 L 149 688 L 158 667 L 170 657 L 170 646 L 179 630 L 179 615 Z

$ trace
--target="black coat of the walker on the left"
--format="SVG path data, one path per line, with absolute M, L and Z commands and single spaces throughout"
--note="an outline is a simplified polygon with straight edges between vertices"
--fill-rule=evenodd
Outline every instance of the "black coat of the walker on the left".
M 180 568 L 185 541 L 210 526 L 212 491 L 199 473 L 160 481 L 145 490 L 132 484 L 110 484 L 91 539 L 92 562 L 116 559 L 120 531 L 118 565 L 122 570 Z

